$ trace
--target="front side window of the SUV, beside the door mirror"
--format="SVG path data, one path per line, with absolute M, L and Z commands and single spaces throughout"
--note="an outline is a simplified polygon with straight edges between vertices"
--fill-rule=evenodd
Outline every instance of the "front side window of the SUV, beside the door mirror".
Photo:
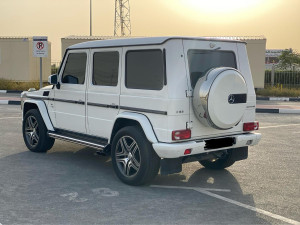
M 86 69 L 86 53 L 70 53 L 62 75 L 62 83 L 83 84 Z

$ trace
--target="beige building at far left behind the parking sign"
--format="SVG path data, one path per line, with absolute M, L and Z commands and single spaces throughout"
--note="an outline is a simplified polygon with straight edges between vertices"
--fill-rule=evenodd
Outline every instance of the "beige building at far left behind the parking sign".
M 32 37 L 0 37 L 0 78 L 39 81 L 40 59 L 33 57 Z M 43 81 L 51 74 L 51 43 L 48 57 L 42 58 Z

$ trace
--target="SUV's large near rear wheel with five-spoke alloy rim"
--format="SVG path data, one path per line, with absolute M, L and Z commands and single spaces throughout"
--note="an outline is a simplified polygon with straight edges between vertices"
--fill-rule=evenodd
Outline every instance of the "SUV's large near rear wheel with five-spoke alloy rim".
M 116 175 L 129 185 L 150 182 L 160 167 L 160 158 L 144 132 L 136 126 L 124 127 L 117 132 L 112 142 L 111 157 Z

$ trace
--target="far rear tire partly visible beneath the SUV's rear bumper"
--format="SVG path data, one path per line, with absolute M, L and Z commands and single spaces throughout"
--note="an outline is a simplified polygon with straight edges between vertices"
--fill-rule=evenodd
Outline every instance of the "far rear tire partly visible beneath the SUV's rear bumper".
M 223 155 L 214 160 L 202 160 L 199 163 L 207 169 L 212 170 L 222 170 L 229 166 L 232 166 L 235 163 L 235 160 L 232 158 L 232 151 L 225 151 Z

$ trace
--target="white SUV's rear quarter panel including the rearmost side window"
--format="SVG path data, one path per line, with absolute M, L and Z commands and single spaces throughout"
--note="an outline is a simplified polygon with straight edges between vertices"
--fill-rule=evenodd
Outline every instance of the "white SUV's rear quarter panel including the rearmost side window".
M 158 139 L 166 135 L 168 92 L 163 46 L 123 48 L 120 112 L 144 114 Z

